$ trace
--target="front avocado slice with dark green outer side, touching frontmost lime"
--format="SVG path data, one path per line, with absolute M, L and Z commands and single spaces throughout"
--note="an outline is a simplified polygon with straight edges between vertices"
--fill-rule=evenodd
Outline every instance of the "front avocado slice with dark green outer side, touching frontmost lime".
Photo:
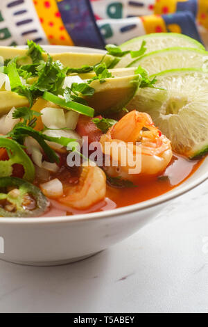
M 135 96 L 140 83 L 139 74 L 105 79 L 105 83 L 95 80 L 90 84 L 95 88 L 94 95 L 85 99 L 96 113 L 116 113 Z

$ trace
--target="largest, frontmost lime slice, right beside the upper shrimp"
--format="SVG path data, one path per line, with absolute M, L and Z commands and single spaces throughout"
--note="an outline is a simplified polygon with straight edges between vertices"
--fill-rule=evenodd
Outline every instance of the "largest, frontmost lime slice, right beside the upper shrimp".
M 166 90 L 139 89 L 127 108 L 149 113 L 175 152 L 190 159 L 207 154 L 208 73 L 169 70 L 156 78 L 155 86 Z

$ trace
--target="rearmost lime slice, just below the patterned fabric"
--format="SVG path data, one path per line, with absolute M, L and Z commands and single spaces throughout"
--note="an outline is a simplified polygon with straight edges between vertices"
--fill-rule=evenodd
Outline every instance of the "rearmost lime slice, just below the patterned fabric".
M 143 41 L 146 41 L 146 54 L 152 51 L 167 49 L 170 47 L 189 47 L 205 50 L 203 45 L 194 40 L 193 38 L 189 38 L 187 35 L 177 34 L 177 33 L 154 33 L 139 36 L 139 38 L 133 38 L 128 42 L 123 43 L 121 45 L 121 49 L 125 50 L 139 50 Z M 116 65 L 116 67 L 126 67 L 132 63 L 132 58 L 129 55 L 121 58 L 121 61 Z

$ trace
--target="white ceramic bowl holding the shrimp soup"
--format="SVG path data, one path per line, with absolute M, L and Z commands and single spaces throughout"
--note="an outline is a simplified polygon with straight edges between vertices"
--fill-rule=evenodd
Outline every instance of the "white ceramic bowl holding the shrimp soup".
M 44 47 L 49 52 L 98 51 Z M 208 157 L 186 182 L 163 196 L 120 209 L 53 218 L 0 218 L 0 259 L 50 266 L 81 260 L 129 237 L 156 218 L 166 202 L 208 178 Z

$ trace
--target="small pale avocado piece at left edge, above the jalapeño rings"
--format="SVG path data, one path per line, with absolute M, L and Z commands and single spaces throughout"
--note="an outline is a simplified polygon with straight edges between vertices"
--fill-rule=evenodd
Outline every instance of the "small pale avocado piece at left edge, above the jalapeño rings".
M 21 97 L 21 95 L 11 91 L 0 92 L 0 116 L 8 113 L 13 106 L 18 108 L 28 105 L 29 103 L 26 97 Z

